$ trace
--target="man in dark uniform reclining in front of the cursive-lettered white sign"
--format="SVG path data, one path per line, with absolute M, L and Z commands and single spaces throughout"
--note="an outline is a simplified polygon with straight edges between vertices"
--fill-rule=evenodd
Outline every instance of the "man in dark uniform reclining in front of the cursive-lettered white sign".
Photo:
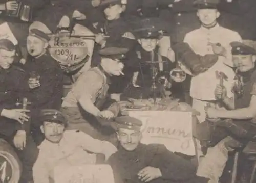
M 164 145 L 141 144 L 141 126 L 140 120 L 130 116 L 117 117 L 113 122 L 119 146 L 108 163 L 116 183 L 208 181 L 207 178 L 196 177 L 196 167 Z

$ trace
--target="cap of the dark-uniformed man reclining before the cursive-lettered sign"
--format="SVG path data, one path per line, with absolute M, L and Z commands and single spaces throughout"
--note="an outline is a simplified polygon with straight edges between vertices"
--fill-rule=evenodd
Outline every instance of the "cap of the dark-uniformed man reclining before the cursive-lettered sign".
M 120 128 L 123 128 L 123 129 L 131 129 L 136 132 L 140 132 L 142 121 L 131 116 L 119 116 L 119 117 L 116 117 L 113 120 L 113 122 L 111 122 L 111 126 L 115 130 L 119 130 Z

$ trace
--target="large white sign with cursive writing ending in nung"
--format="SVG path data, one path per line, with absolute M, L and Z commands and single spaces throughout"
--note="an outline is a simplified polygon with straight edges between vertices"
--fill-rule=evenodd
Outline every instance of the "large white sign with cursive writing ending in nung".
M 192 113 L 183 111 L 130 111 L 140 119 L 143 144 L 164 144 L 172 152 L 195 155 Z

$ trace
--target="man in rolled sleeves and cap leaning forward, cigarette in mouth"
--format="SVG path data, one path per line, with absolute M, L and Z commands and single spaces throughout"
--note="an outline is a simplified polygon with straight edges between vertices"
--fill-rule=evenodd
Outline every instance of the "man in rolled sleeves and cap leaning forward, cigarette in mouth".
M 119 113 L 119 106 L 111 101 L 108 90 L 110 77 L 122 74 L 124 65 L 121 60 L 127 51 L 121 47 L 101 49 L 100 65 L 82 73 L 74 83 L 62 103 L 69 129 L 79 129 L 93 138 L 109 140 L 114 131 L 107 126 L 108 122 L 101 123 L 100 119 L 108 120 Z

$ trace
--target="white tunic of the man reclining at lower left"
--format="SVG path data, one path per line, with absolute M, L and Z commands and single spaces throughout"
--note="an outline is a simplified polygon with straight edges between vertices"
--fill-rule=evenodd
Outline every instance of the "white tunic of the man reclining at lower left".
M 108 159 L 117 151 L 110 142 L 93 139 L 75 130 L 64 132 L 59 143 L 44 140 L 38 148 L 39 155 L 33 166 L 34 183 L 51 182 L 57 166 L 95 164 L 96 154 L 93 153 L 102 153 Z

